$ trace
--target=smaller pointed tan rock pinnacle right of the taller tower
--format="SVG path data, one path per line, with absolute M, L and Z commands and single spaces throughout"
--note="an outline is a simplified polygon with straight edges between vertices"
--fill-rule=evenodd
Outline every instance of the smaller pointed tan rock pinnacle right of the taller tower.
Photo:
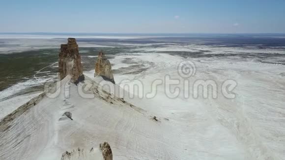
M 115 84 L 111 63 L 102 51 L 99 53 L 95 64 L 94 77 L 96 76 L 101 76 L 104 80 L 109 80 Z

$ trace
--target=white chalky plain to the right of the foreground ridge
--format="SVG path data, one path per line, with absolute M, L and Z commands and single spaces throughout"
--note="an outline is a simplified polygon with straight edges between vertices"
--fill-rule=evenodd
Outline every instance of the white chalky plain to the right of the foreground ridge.
M 171 99 L 160 85 L 156 88 L 157 95 L 148 100 L 144 98 L 143 103 L 128 99 L 158 117 L 170 119 L 172 133 L 181 141 L 172 140 L 187 149 L 182 159 L 284 160 L 284 65 L 223 57 L 185 59 L 163 53 L 116 56 L 111 63 L 120 64 L 125 58 L 149 67 L 140 74 L 114 77 L 122 88 L 129 86 L 131 92 L 138 80 L 142 81 L 144 93 L 150 91 L 154 80 L 163 80 L 167 74 L 182 81 L 176 69 L 181 61 L 187 60 L 196 64 L 196 74 L 189 79 L 191 84 L 195 80 L 216 82 L 217 99 L 193 98 L 193 86 L 185 87 L 182 83 L 176 87 L 182 92 L 189 91 L 190 98 L 180 94 Z M 225 80 L 235 80 L 238 84 L 234 99 L 222 95 L 221 85 Z

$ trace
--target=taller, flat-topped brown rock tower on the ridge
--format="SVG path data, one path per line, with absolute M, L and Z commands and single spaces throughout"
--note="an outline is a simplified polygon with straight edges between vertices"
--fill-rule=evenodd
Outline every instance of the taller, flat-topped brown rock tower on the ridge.
M 68 38 L 68 43 L 60 46 L 58 72 L 60 80 L 71 75 L 73 82 L 83 75 L 81 56 L 75 38 Z

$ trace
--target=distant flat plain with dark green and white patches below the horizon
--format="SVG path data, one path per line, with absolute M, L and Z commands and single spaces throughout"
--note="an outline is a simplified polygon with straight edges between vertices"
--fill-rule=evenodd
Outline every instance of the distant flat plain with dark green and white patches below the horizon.
M 111 59 L 123 54 L 168 53 L 190 58 L 239 58 L 285 64 L 284 34 L 54 34 L 0 34 L 0 74 L 3 75 L 0 77 L 0 100 L 21 94 L 21 91 L 30 92 L 27 88 L 37 90 L 40 82 L 54 80 L 59 46 L 70 36 L 79 37 L 85 71 L 94 69 L 101 50 Z M 124 72 L 127 70 L 124 68 Z

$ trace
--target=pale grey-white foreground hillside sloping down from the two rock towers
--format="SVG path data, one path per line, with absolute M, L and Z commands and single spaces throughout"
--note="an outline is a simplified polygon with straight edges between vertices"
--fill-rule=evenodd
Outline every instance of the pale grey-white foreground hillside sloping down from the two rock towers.
M 139 107 L 113 96 L 108 98 L 103 91 L 98 95 L 91 89 L 95 97 L 83 98 L 76 85 L 68 84 L 69 80 L 66 77 L 61 81 L 56 98 L 44 97 L 14 120 L 1 124 L 1 159 L 59 160 L 66 150 L 89 149 L 103 141 L 110 143 L 115 160 L 188 157 L 182 143 L 185 139 L 173 132 L 169 121 L 156 122 Z M 85 80 L 86 85 L 91 83 Z M 62 116 L 65 111 L 72 112 L 73 121 Z

